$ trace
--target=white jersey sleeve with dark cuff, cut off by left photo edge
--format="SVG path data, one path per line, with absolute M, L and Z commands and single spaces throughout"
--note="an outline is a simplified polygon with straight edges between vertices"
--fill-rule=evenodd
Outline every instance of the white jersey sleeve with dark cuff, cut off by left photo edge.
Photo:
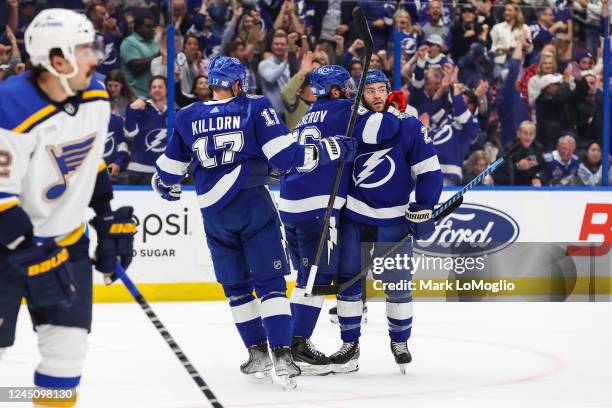
M 34 134 L 0 128 L 0 247 L 14 249 L 33 229 L 19 197 L 35 147 Z

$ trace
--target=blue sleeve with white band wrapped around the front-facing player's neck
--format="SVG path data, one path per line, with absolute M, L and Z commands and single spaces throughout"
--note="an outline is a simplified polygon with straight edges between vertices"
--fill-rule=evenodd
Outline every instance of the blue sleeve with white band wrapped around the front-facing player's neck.
M 390 112 L 372 112 L 365 107 L 357 111 L 353 137 L 361 143 L 381 144 L 397 135 L 400 119 Z

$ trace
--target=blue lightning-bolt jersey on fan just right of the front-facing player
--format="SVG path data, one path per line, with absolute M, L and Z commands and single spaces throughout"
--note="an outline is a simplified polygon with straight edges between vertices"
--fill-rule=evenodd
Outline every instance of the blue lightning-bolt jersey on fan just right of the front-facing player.
M 444 175 L 444 185 L 458 186 L 463 178 L 463 159 L 478 137 L 478 120 L 468 110 L 462 95 L 453 97 L 454 114 L 446 114 L 432 138 Z

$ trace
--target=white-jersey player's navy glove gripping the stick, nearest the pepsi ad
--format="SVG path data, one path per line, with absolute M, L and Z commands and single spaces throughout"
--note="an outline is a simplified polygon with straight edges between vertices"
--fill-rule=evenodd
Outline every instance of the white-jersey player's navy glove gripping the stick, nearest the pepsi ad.
M 115 276 L 117 261 L 124 269 L 127 269 L 132 262 L 134 234 L 136 234 L 133 213 L 133 207 L 121 207 L 110 214 L 97 215 L 90 221 L 98 233 L 95 266 L 104 273 L 104 282 L 107 285 L 117 279 Z

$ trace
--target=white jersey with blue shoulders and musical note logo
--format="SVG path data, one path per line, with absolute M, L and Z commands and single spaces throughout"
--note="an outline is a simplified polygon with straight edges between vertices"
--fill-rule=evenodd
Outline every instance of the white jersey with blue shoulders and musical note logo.
M 0 219 L 20 206 L 37 237 L 83 228 L 97 174 L 106 169 L 109 117 L 108 93 L 96 80 L 61 104 L 47 99 L 30 73 L 2 83 Z M 7 229 L 3 224 L 0 236 Z

